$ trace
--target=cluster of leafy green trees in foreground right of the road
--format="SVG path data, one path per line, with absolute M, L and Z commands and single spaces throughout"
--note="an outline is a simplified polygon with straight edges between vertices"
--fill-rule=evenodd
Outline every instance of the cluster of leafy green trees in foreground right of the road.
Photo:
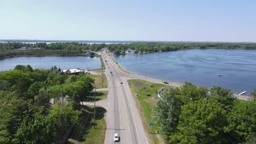
M 159 133 L 166 143 L 256 143 L 255 99 L 231 95 L 230 89 L 190 82 L 165 89 L 153 112 Z

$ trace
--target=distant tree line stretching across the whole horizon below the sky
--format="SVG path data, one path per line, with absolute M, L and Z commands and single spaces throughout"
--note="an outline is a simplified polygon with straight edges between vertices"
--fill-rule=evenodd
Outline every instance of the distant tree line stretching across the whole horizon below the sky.
M 27 50 L 19 50 L 26 47 Z M 100 51 L 107 47 L 117 55 L 125 50 L 136 50 L 136 53 L 166 52 L 189 49 L 256 49 L 256 44 L 235 43 L 130 43 L 130 44 L 87 44 L 87 43 L 0 43 L 0 58 L 16 56 L 79 56 L 84 50 Z

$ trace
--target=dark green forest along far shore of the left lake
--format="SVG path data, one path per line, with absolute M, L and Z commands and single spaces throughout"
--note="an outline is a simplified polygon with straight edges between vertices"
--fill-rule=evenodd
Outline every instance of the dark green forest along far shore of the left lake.
M 82 44 L 82 43 L 0 43 L 0 58 L 18 56 L 84 56 L 84 50 L 99 51 L 106 44 Z M 24 48 L 21 50 L 20 48 Z M 90 52 L 90 55 L 95 55 Z

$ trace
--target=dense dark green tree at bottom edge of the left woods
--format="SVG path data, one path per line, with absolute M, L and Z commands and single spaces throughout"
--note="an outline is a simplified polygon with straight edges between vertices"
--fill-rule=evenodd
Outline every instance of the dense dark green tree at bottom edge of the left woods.
M 53 118 L 51 116 L 36 115 L 34 118 L 26 117 L 15 134 L 13 143 L 37 144 L 51 143 L 53 141 Z

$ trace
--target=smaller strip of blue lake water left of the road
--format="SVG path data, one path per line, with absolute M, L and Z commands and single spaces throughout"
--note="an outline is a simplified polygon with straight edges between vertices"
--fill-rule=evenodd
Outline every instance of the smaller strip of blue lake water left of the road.
M 49 69 L 56 65 L 61 69 L 99 69 L 100 57 L 14 57 L 0 60 L 0 71 L 12 70 L 16 65 L 31 65 L 33 69 Z

